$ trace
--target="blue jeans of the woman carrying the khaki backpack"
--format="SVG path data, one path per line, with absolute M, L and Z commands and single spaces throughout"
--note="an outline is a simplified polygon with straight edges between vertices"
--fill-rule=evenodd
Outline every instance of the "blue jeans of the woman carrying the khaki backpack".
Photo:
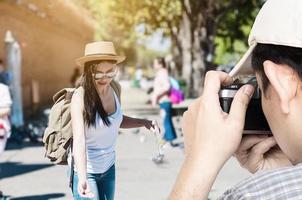
M 78 176 L 74 172 L 73 176 L 73 198 L 76 200 L 113 200 L 115 191 L 115 165 L 110 167 L 106 172 L 101 174 L 87 173 L 87 181 L 91 192 L 94 194 L 93 199 L 82 198 L 78 193 Z

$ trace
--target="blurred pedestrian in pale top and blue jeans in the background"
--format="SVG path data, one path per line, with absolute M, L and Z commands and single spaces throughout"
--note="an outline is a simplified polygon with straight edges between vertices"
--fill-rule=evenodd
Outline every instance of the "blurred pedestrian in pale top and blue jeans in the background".
M 161 117 L 164 125 L 164 140 L 169 142 L 171 146 L 176 146 L 172 141 L 176 139 L 176 132 L 172 123 L 172 104 L 169 99 L 170 79 L 166 69 L 165 59 L 156 58 L 153 63 L 154 69 L 157 71 L 154 79 L 154 91 L 152 96 L 152 105 L 159 104 Z

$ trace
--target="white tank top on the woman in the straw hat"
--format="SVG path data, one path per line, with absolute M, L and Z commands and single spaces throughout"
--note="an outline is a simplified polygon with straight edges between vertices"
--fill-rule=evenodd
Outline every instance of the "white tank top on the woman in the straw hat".
M 115 163 L 115 145 L 123 113 L 118 97 L 113 93 L 116 110 L 108 116 L 111 124 L 106 126 L 97 114 L 95 127 L 85 126 L 87 173 L 104 173 Z

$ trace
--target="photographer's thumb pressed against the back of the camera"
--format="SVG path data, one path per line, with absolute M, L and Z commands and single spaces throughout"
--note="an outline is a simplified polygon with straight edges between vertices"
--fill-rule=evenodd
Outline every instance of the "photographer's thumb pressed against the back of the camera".
M 240 125 L 242 125 L 242 128 L 244 125 L 246 109 L 253 93 L 254 87 L 252 85 L 242 86 L 237 91 L 231 105 L 228 119 L 238 122 Z

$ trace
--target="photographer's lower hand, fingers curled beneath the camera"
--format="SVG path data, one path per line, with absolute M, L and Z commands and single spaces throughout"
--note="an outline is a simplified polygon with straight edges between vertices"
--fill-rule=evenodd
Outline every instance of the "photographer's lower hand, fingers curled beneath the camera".
M 275 138 L 268 136 L 244 136 L 235 156 L 240 165 L 251 173 L 292 165 Z

